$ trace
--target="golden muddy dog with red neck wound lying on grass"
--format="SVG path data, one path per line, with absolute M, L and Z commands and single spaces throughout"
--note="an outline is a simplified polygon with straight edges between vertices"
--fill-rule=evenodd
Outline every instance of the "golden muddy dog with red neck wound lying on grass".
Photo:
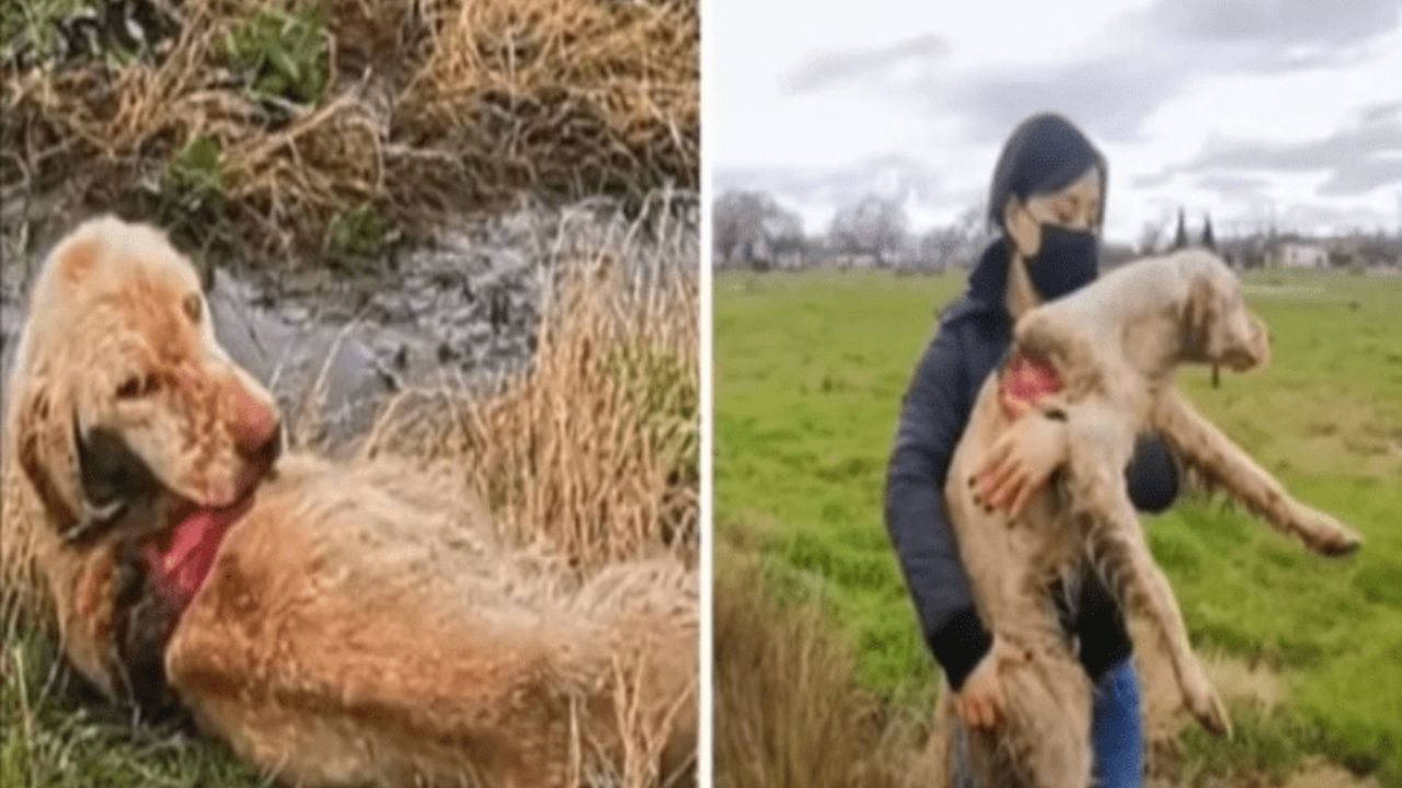
M 571 583 L 450 474 L 279 458 L 279 418 L 154 229 L 79 227 L 7 386 L 3 568 L 102 693 L 299 785 L 629 784 L 690 768 L 674 561 Z

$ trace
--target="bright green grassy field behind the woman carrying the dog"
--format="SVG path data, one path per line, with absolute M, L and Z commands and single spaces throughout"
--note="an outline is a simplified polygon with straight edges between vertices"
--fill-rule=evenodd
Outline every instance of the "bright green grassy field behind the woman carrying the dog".
M 819 589 L 861 683 L 928 702 L 932 660 L 882 524 L 886 456 L 935 310 L 963 276 L 725 273 L 715 283 L 715 519 L 777 585 Z M 1148 519 L 1195 645 L 1279 674 L 1284 700 L 1235 704 L 1234 742 L 1190 733 L 1207 773 L 1280 775 L 1308 753 L 1402 785 L 1402 278 L 1265 272 L 1248 300 L 1274 362 L 1182 376 L 1193 401 L 1301 499 L 1366 536 L 1307 554 L 1206 501 Z M 725 555 L 722 552 L 722 555 Z

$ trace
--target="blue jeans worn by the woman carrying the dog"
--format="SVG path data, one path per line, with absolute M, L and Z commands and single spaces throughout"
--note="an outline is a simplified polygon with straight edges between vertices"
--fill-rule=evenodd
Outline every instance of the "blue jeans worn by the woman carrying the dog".
M 1124 662 L 1106 670 L 1095 683 L 1091 707 L 1091 749 L 1095 750 L 1095 788 L 1138 788 L 1144 763 L 1144 739 L 1140 731 L 1138 681 L 1134 662 Z M 960 725 L 955 731 L 949 759 L 951 784 L 955 788 L 976 788 L 965 766 L 967 763 L 967 732 Z

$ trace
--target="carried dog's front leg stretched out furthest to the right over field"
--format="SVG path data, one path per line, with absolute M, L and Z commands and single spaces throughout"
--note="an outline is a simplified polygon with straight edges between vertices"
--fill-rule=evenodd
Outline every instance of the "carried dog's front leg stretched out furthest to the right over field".
M 1178 456 L 1252 512 L 1323 555 L 1346 555 L 1363 544 L 1353 529 L 1300 503 L 1217 426 L 1176 391 L 1165 391 L 1154 409 L 1154 426 Z

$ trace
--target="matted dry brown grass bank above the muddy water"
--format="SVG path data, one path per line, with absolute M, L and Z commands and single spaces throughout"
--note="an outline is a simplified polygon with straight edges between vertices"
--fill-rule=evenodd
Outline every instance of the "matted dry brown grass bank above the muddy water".
M 320 8 L 327 88 L 269 109 L 226 36 L 265 7 Z M 415 230 L 520 192 L 627 199 L 698 184 L 694 0 L 191 0 L 170 52 L 4 66 L 0 193 L 27 219 L 119 209 L 269 259 L 324 251 L 370 205 Z M 163 172 L 219 143 L 217 208 L 182 213 Z M 39 233 L 41 236 L 43 233 Z

